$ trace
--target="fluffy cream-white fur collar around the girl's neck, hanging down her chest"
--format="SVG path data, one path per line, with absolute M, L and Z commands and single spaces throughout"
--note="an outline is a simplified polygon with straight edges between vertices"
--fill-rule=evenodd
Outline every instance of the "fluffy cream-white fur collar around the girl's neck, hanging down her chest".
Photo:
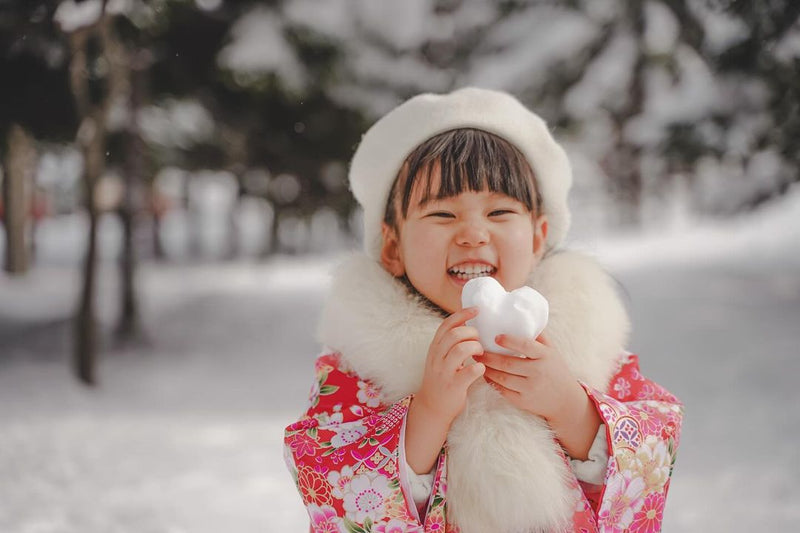
M 550 303 L 551 344 L 578 379 L 605 390 L 629 330 L 609 276 L 585 256 L 557 252 L 528 284 Z M 391 403 L 419 388 L 441 321 L 373 259 L 357 254 L 334 277 L 319 340 Z M 462 533 L 565 526 L 574 508 L 569 476 L 545 422 L 478 380 L 448 434 L 448 515 Z

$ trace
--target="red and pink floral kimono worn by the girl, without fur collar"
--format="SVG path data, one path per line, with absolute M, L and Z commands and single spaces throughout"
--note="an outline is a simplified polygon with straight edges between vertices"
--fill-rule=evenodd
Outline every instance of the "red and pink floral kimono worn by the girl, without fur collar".
M 380 391 L 339 354 L 320 356 L 304 416 L 286 428 L 284 456 L 321 533 L 458 533 L 447 520 L 447 446 L 437 463 L 423 521 L 401 488 L 400 432 L 410 398 L 381 403 Z M 620 358 L 607 392 L 585 387 L 606 425 L 610 459 L 604 485 L 568 480 L 575 495 L 571 531 L 657 532 L 682 406 Z M 414 509 L 414 511 L 412 511 Z

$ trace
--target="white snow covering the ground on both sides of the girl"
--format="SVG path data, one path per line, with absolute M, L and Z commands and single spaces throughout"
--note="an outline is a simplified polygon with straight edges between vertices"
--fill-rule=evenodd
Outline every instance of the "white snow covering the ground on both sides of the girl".
M 728 224 L 576 240 L 620 281 L 643 370 L 686 404 L 664 531 L 800 519 L 800 191 Z M 303 409 L 332 256 L 143 265 L 149 344 L 69 374 L 79 276 L 0 277 L 0 531 L 304 531 L 282 430 Z M 117 280 L 103 264 L 104 331 Z

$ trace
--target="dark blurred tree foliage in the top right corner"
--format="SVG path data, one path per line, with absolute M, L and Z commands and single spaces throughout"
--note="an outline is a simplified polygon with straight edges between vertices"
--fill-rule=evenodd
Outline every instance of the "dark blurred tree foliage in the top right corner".
M 728 206 L 736 211 L 800 181 L 800 3 L 708 0 L 708 6 L 742 28 L 728 46 L 709 50 L 733 100 L 715 123 L 726 130 L 742 124 L 748 129 L 745 145 L 714 146 L 738 157 L 750 180 Z

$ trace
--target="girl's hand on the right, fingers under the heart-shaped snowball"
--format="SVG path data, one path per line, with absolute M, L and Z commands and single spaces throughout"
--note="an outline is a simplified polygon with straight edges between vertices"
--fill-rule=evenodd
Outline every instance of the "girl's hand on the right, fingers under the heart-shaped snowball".
M 554 429 L 585 407 L 586 392 L 543 335 L 536 340 L 498 335 L 495 341 L 524 357 L 485 352 L 475 360 L 486 365 L 484 379 L 513 405 Z

